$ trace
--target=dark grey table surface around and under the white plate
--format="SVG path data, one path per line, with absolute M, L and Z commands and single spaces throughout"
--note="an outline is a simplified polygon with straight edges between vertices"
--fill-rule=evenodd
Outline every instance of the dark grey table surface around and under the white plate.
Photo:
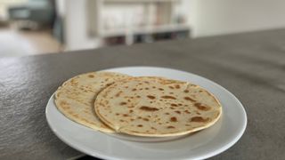
M 71 76 L 125 66 L 185 70 L 221 84 L 243 103 L 241 139 L 210 159 L 285 157 L 285 29 L 0 59 L 0 159 L 67 159 L 45 105 Z

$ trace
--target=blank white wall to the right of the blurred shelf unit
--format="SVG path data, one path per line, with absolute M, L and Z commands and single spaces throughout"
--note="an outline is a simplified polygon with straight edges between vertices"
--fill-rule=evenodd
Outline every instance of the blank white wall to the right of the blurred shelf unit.
M 192 36 L 285 27 L 284 0 L 191 0 Z

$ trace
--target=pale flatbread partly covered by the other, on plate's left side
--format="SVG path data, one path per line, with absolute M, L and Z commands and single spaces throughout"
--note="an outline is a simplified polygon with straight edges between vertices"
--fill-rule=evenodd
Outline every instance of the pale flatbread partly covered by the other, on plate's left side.
M 55 92 L 55 104 L 69 119 L 94 130 L 114 132 L 95 115 L 94 100 L 99 92 L 126 75 L 112 72 L 92 72 L 74 76 Z

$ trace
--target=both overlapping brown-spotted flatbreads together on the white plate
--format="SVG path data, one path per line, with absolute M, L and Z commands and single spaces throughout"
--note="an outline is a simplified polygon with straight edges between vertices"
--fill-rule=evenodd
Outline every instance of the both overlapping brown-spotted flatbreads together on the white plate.
M 196 84 L 103 71 L 70 78 L 55 92 L 54 102 L 78 124 L 143 137 L 197 132 L 222 114 L 216 97 Z

